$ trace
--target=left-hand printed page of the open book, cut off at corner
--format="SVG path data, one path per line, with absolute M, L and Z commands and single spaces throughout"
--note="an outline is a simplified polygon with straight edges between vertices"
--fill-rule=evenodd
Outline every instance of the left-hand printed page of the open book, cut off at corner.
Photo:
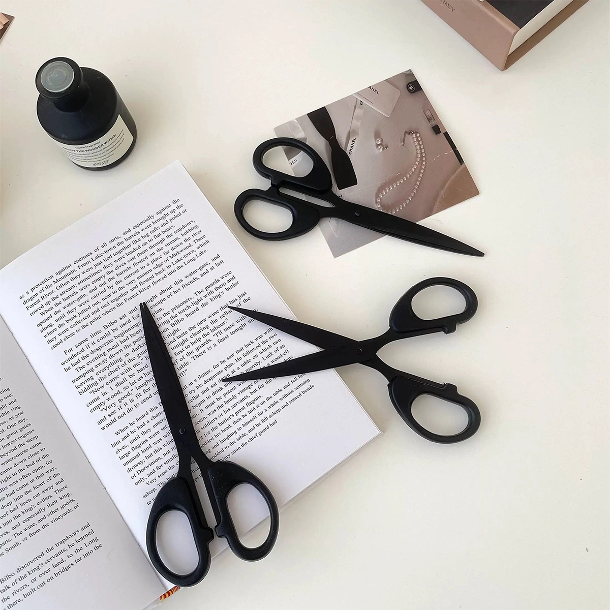
M 164 590 L 0 318 L 0 609 L 139 610 Z

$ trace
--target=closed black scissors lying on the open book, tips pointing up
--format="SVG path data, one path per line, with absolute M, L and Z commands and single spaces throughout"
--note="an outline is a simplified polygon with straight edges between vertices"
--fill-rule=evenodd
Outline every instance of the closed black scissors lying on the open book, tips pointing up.
M 256 561 L 269 553 L 278 537 L 279 515 L 278 506 L 265 484 L 251 472 L 232 462 L 212 462 L 203 453 L 193 422 L 188 412 L 187 402 L 182 392 L 176 369 L 171 362 L 163 338 L 145 303 L 140 303 L 142 324 L 146 337 L 146 347 L 151 361 L 152 374 L 159 390 L 165 417 L 170 425 L 178 449 L 178 475 L 171 478 L 157 493 L 152 503 L 151 513 L 146 527 L 146 547 L 152 565 L 164 578 L 181 587 L 197 584 L 210 567 L 210 551 L 208 545 L 213 539 L 212 528 L 207 525 L 206 517 L 201 508 L 201 501 L 195 487 L 195 479 L 191 471 L 191 460 L 199 467 L 199 472 L 206 485 L 207 495 L 212 504 L 216 519 L 214 528 L 217 536 L 226 538 L 231 550 L 241 559 Z M 254 487 L 267 502 L 271 517 L 271 526 L 267 540 L 259 547 L 249 548 L 242 545 L 235 531 L 227 498 L 234 487 L 246 483 Z M 196 568 L 190 574 L 176 574 L 163 564 L 157 550 L 157 524 L 160 517 L 168 511 L 180 511 L 187 515 L 190 523 L 195 547 L 198 554 Z

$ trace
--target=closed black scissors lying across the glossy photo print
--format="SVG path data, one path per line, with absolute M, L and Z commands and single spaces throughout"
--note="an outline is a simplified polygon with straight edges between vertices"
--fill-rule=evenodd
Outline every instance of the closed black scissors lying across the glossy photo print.
M 281 171 L 267 167 L 263 162 L 266 152 L 277 146 L 291 146 L 305 152 L 314 163 L 307 176 L 289 176 Z M 432 231 L 421 224 L 413 223 L 410 220 L 393 216 L 386 212 L 371 209 L 370 207 L 359 206 L 350 203 L 332 192 L 331 173 L 326 167 L 320 155 L 311 146 L 300 140 L 293 138 L 273 138 L 257 146 L 252 157 L 254 169 L 264 178 L 271 181 L 271 186 L 267 190 L 250 188 L 245 190 L 235 199 L 235 216 L 242 227 L 250 235 L 267 240 L 290 239 L 298 237 L 307 231 L 311 231 L 320 218 L 340 218 L 349 223 L 372 229 L 378 233 L 392 235 L 407 242 L 419 243 L 423 246 L 457 252 L 459 254 L 470 254 L 471 256 L 483 256 L 483 253 L 472 246 L 459 242 L 453 237 L 447 237 L 437 231 Z M 312 195 L 317 199 L 322 199 L 331 204 L 332 207 L 321 206 L 304 199 L 293 197 L 288 193 L 282 193 L 281 188 L 286 188 L 304 195 Z M 285 231 L 266 232 L 259 231 L 253 227 L 243 215 L 243 210 L 249 201 L 260 199 L 276 206 L 282 206 L 292 213 L 292 224 Z

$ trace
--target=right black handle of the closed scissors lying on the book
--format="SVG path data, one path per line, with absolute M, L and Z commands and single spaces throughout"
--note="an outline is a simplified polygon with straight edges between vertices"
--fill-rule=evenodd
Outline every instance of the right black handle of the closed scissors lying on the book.
M 264 558 L 273 548 L 279 529 L 278 505 L 267 486 L 249 470 L 233 462 L 213 462 L 207 471 L 207 479 L 209 482 L 208 493 L 211 490 L 212 493 L 209 493 L 210 500 L 217 519 L 217 526 L 214 528 L 216 535 L 226 538 L 231 550 L 241 559 L 257 561 L 257 559 Z M 240 542 L 227 504 L 231 490 L 241 484 L 254 487 L 262 495 L 269 509 L 271 520 L 269 534 L 265 542 L 254 548 L 245 547 Z

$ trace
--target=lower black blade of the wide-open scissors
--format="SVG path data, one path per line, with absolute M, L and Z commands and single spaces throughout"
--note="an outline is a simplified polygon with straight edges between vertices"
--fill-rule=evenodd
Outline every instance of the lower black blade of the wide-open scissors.
M 336 348 L 307 354 L 307 356 L 301 356 L 293 360 L 278 362 L 278 364 L 272 364 L 269 367 L 256 368 L 222 381 L 251 381 L 253 379 L 303 375 L 304 373 L 324 371 L 327 368 L 345 367 L 348 364 L 365 362 L 373 358 L 376 353 L 375 347 L 367 349 L 366 343 L 368 341 L 354 341 L 348 345 L 340 345 Z

